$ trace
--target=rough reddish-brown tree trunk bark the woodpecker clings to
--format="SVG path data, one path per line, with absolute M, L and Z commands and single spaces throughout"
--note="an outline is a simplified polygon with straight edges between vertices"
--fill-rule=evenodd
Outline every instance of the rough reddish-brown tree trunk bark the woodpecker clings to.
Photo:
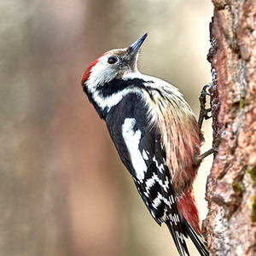
M 212 0 L 213 142 L 203 228 L 212 255 L 256 252 L 256 32 L 253 0 Z

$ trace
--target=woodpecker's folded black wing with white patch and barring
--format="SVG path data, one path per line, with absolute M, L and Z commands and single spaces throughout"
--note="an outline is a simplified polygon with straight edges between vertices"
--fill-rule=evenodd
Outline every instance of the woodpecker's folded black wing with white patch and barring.
M 147 108 L 140 97 L 131 94 L 110 110 L 106 123 L 148 211 L 158 224 L 167 224 L 180 255 L 189 255 L 166 166 L 166 152 L 160 133 L 155 127 L 148 127 L 147 117 Z

